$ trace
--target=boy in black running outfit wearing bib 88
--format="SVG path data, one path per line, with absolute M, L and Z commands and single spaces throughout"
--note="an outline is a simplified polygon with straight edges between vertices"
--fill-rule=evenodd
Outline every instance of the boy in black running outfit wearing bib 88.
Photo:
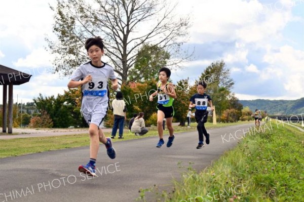
M 189 107 L 193 108 L 195 107 L 195 119 L 198 123 L 197 129 L 199 132 L 199 144 L 197 146 L 197 149 L 200 149 L 204 147 L 204 136 L 206 137 L 206 144 L 210 143 L 209 136 L 210 134 L 207 133 L 205 128 L 205 123 L 207 122 L 208 118 L 208 112 L 207 112 L 207 103 L 209 103 L 211 107 L 211 111 L 213 111 L 213 105 L 212 105 L 212 99 L 209 95 L 205 94 L 205 91 L 207 89 L 207 84 L 205 82 L 200 82 L 197 85 L 197 91 L 198 93 L 193 95 L 190 98 L 190 104 Z

